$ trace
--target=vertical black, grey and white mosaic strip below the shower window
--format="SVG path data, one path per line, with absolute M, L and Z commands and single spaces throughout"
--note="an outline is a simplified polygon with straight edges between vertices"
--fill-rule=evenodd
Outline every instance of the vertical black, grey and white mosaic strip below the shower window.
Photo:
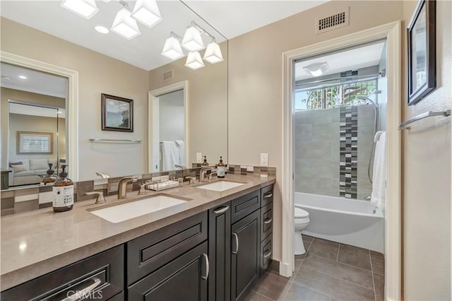
M 358 108 L 340 108 L 339 195 L 357 199 Z

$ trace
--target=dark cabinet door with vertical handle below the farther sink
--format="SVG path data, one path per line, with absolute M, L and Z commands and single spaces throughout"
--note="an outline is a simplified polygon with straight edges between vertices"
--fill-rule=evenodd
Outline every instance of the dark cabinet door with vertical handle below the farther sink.
M 254 211 L 232 225 L 232 300 L 239 300 L 259 277 L 260 216 L 260 211 Z

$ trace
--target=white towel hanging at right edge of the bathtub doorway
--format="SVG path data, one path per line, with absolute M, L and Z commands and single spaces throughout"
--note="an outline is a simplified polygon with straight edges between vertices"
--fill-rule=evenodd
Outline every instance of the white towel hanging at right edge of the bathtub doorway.
M 375 155 L 370 202 L 383 211 L 386 203 L 386 132 L 377 131 L 374 141 Z

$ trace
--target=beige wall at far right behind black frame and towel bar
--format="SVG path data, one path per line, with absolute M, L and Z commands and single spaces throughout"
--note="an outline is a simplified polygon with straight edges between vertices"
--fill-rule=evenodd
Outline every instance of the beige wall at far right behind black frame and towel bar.
M 405 2 L 405 25 L 416 4 Z M 436 1 L 436 90 L 414 106 L 404 104 L 404 119 L 451 109 L 451 11 L 451 1 Z M 451 300 L 451 118 L 417 122 L 403 141 L 404 297 Z

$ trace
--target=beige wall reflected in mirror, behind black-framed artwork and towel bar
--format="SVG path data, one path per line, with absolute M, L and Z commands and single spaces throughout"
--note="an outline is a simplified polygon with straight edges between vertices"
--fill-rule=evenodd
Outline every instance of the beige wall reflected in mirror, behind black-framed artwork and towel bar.
M 147 172 L 148 71 L 6 18 L 1 18 L 1 50 L 78 71 L 79 179 L 94 179 L 97 171 L 112 176 Z M 101 93 L 133 100 L 133 133 L 101 130 Z M 89 138 L 143 143 L 92 143 Z

